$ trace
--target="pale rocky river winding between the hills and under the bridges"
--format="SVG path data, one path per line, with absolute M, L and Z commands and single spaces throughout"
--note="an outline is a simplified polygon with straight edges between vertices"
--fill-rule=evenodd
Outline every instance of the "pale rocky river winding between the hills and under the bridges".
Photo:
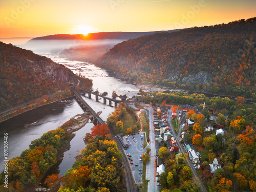
M 38 53 L 40 55 L 49 56 L 49 53 Z M 138 89 L 115 75 L 108 73 L 106 70 L 95 67 L 92 63 L 81 61 L 70 61 L 65 58 L 58 58 L 50 55 L 51 59 L 57 63 L 65 65 L 74 73 L 81 73 L 93 80 L 93 89 L 99 92 L 108 92 L 109 96 L 113 91 L 118 95 L 132 97 L 137 95 Z M 84 98 L 96 112 L 102 111 L 101 118 L 106 120 L 108 115 L 114 111 L 114 108 L 109 105 L 104 105 L 95 101 L 94 95 L 92 99 Z M 8 159 L 19 156 L 24 150 L 29 148 L 31 141 L 38 139 L 42 134 L 54 130 L 64 122 L 68 121 L 71 117 L 83 113 L 78 103 L 74 98 L 63 99 L 48 105 L 41 106 L 37 109 L 28 111 L 16 117 L 13 117 L 0 124 L 0 145 L 4 146 L 4 133 L 8 133 Z M 75 161 L 75 156 L 86 147 L 82 137 L 86 133 L 91 132 L 93 123 L 87 123 L 82 129 L 75 132 L 76 136 L 70 142 L 70 148 L 63 155 L 63 160 L 58 162 L 57 166 L 51 170 L 51 173 L 58 173 L 63 176 Z M 4 162 L 4 150 L 0 148 L 0 162 Z M 1 172 L 4 170 L 4 163 L 1 163 Z

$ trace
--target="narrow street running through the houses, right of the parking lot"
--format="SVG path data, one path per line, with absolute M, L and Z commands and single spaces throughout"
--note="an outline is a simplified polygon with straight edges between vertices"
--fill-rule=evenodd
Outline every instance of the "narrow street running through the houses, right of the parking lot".
M 172 114 L 172 110 L 169 110 L 169 114 Z M 168 117 L 168 126 L 170 127 L 170 129 L 172 130 L 172 132 L 173 132 L 173 134 L 174 134 L 174 137 L 176 138 L 176 141 L 177 141 L 177 144 L 178 144 L 178 146 L 179 146 L 180 151 L 181 151 L 183 154 L 187 153 L 187 152 L 184 150 L 182 144 L 180 143 L 179 138 L 177 137 L 177 135 L 176 135 L 175 132 L 174 132 L 173 125 L 172 125 L 172 123 L 170 123 L 170 115 L 169 115 L 169 117 Z M 201 179 L 198 177 L 198 175 L 197 175 L 197 173 L 196 173 L 196 171 L 195 171 L 193 165 L 191 164 L 190 160 L 188 159 L 188 157 L 186 158 L 186 163 L 187 163 L 188 166 L 191 168 L 191 170 L 192 170 L 192 175 L 193 175 L 195 181 L 200 185 L 201 191 L 207 192 L 206 188 L 204 187 L 203 183 L 201 182 Z

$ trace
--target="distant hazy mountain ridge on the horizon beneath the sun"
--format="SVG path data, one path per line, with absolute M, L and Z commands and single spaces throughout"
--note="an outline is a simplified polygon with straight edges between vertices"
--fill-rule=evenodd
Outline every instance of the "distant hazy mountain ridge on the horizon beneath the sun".
M 144 35 L 151 35 L 154 33 L 170 33 L 174 31 L 179 31 L 180 29 L 169 30 L 169 31 L 151 31 L 151 32 L 99 32 L 99 33 L 89 33 L 87 36 L 83 34 L 57 34 L 57 35 L 48 35 L 43 37 L 36 37 L 28 41 L 33 40 L 102 40 L 102 39 L 133 39 Z

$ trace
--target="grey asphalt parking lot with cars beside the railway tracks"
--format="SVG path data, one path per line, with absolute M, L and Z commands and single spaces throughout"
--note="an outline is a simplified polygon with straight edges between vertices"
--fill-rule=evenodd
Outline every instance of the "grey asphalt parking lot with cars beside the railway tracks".
M 142 183 L 143 161 L 141 155 L 146 152 L 146 150 L 143 149 L 144 137 L 141 137 L 141 135 L 143 135 L 143 132 L 124 136 L 130 146 L 125 152 L 127 159 L 130 161 L 130 167 L 136 184 Z

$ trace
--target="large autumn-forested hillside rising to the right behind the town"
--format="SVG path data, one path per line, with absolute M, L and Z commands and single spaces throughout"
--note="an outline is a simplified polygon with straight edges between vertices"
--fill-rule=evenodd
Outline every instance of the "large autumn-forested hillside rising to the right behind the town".
M 97 62 L 142 83 L 256 98 L 256 17 L 123 41 Z

